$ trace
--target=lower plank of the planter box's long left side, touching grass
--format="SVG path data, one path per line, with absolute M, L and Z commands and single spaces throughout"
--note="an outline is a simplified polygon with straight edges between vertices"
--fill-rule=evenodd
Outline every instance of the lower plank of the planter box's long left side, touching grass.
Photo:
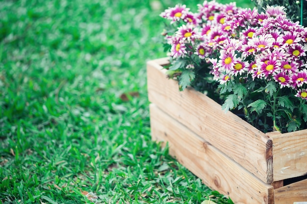
M 184 125 L 150 105 L 152 138 L 169 143 L 169 153 L 211 189 L 229 195 L 235 204 L 273 204 L 273 186 L 266 184 Z

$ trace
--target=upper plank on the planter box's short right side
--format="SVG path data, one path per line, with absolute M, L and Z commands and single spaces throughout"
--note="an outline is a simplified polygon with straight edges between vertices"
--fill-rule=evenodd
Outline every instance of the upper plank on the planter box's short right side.
M 273 180 L 307 174 L 307 130 L 275 134 L 273 140 Z

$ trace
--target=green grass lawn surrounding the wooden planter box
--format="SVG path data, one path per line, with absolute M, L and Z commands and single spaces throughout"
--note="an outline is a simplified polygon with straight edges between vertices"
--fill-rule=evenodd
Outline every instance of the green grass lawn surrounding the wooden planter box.
M 145 63 L 174 5 L 0 0 L 0 204 L 231 203 L 151 141 Z

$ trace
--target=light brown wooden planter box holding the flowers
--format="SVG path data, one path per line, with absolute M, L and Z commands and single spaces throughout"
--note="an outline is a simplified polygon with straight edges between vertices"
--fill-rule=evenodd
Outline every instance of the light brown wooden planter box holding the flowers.
M 205 94 L 179 91 L 167 64 L 147 63 L 153 140 L 235 204 L 307 202 L 307 130 L 264 134 Z

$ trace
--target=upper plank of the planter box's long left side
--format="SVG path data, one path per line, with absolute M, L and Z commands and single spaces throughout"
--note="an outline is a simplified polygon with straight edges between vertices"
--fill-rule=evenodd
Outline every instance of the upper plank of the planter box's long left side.
M 163 59 L 167 64 L 167 59 Z M 252 172 L 272 183 L 272 140 L 264 133 L 193 89 L 178 91 L 178 83 L 167 79 L 159 61 L 147 66 L 149 100 L 185 124 L 214 147 Z

